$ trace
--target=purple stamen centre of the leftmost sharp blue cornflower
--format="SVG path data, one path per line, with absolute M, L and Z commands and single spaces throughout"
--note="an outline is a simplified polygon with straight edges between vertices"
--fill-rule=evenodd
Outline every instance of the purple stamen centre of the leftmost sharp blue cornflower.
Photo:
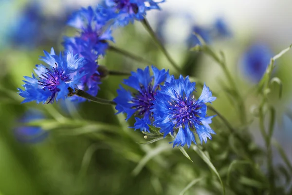
M 71 80 L 71 78 L 69 78 L 69 75 L 66 75 L 64 73 L 63 68 L 58 69 L 57 63 L 55 63 L 55 67 L 53 67 L 52 70 L 48 68 L 46 68 L 46 70 L 47 72 L 43 73 L 41 75 L 42 77 L 39 77 L 38 84 L 43 87 L 43 90 L 49 90 L 52 92 L 52 96 L 47 102 L 51 103 L 52 101 L 54 101 L 56 93 L 60 91 L 60 89 L 58 89 L 60 81 L 62 80 L 64 82 L 68 82 Z

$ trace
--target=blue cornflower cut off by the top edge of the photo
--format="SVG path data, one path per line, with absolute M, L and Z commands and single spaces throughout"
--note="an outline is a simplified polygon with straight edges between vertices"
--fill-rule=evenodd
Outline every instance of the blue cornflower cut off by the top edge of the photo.
M 106 4 L 118 13 L 115 24 L 126 26 L 134 20 L 143 20 L 146 11 L 151 9 L 160 9 L 159 3 L 164 0 L 106 0 Z

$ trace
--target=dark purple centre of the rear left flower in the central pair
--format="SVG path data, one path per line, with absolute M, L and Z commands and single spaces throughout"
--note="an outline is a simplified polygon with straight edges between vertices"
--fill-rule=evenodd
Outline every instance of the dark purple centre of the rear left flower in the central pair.
M 149 84 L 147 88 L 141 85 L 141 89 L 138 93 L 133 94 L 133 103 L 135 106 L 132 106 L 133 109 L 136 109 L 138 115 L 142 116 L 147 113 L 150 107 L 153 105 L 151 102 L 154 100 L 155 91 L 153 91 L 152 84 Z

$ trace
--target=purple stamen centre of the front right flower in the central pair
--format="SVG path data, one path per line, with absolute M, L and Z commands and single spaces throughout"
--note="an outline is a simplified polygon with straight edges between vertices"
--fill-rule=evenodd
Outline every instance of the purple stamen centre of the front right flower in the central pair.
M 187 98 L 177 94 L 177 99 L 171 99 L 168 103 L 170 105 L 169 119 L 175 124 L 175 128 L 185 125 L 189 125 L 189 127 L 193 128 L 194 123 L 201 123 L 197 118 L 199 117 L 199 109 L 201 106 L 196 103 L 194 96 Z

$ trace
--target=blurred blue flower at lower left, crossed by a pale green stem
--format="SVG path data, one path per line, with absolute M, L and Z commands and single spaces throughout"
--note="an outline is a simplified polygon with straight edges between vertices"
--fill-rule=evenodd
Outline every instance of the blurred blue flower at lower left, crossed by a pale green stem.
M 18 141 L 23 143 L 37 143 L 47 138 L 48 132 L 44 131 L 41 127 L 26 126 L 26 124 L 24 124 L 44 118 L 44 114 L 39 110 L 30 109 L 27 111 L 24 116 L 19 119 L 21 125 L 14 129 Z

